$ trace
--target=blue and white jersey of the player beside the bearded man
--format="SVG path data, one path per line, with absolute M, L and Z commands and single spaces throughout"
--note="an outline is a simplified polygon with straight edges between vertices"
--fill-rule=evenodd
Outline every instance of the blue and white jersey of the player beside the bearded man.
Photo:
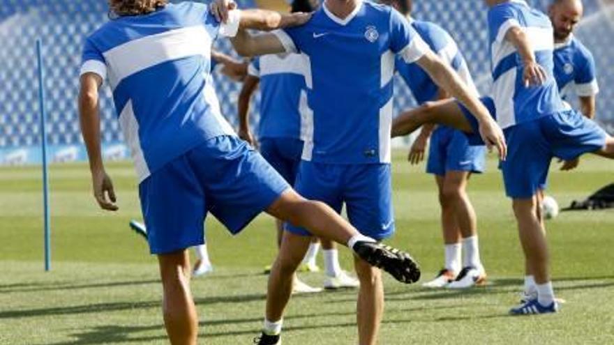
M 525 87 L 523 83 L 521 56 L 505 39 L 512 27 L 526 33 L 537 63 L 546 71 L 547 79 L 541 86 Z M 530 8 L 524 0 L 510 0 L 488 11 L 488 31 L 493 100 L 501 128 L 564 110 L 553 73 L 554 38 L 550 19 Z

